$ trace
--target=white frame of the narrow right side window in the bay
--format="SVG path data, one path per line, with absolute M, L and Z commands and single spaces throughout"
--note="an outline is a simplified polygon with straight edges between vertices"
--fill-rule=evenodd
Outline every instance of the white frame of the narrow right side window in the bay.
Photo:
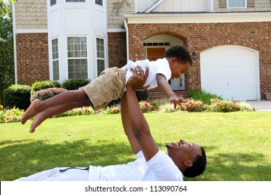
M 99 40 L 103 40 L 103 45 Z M 106 51 L 105 51 L 106 40 L 104 38 L 96 38 L 96 58 L 97 58 L 97 77 L 104 71 L 106 68 Z M 103 61 L 104 64 L 99 62 Z

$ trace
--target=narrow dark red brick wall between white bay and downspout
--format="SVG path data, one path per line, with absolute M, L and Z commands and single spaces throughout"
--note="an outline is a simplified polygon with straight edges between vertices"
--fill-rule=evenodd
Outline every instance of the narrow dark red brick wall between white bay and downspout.
M 109 67 L 122 67 L 127 63 L 126 33 L 108 33 Z

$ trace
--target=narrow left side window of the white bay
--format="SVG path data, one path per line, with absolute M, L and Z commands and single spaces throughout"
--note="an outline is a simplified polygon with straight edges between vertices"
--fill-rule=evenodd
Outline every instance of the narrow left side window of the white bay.
M 59 49 L 58 49 L 58 38 L 51 40 L 51 61 L 52 61 L 52 72 L 53 80 L 59 80 Z

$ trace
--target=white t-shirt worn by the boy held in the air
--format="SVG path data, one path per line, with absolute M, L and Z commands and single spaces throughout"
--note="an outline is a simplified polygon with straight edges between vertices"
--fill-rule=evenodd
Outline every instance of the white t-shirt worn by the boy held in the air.
M 122 67 L 122 70 L 126 70 L 125 86 L 129 78 L 133 75 L 133 72 L 131 72 L 130 69 L 131 68 L 135 69 L 137 65 L 140 65 L 140 67 L 142 68 L 144 72 L 146 70 L 146 67 L 149 67 L 149 75 L 148 75 L 146 83 L 144 84 L 144 86 L 149 85 L 148 89 L 156 88 L 156 86 L 158 86 L 157 81 L 156 81 L 157 74 L 164 75 L 167 81 L 170 80 L 171 78 L 172 72 L 170 70 L 170 63 L 168 63 L 167 59 L 165 58 L 158 59 L 156 61 L 149 61 L 149 60 L 136 61 L 136 62 L 128 61 L 127 64 L 124 65 L 124 67 Z

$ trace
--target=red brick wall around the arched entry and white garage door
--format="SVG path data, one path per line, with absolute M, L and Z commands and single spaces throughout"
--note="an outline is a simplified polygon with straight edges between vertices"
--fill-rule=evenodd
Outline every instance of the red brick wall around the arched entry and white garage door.
M 186 91 L 200 88 L 199 53 L 220 45 L 240 45 L 259 52 L 261 99 L 271 91 L 271 22 L 224 24 L 129 24 L 129 55 L 143 58 L 143 41 L 159 34 L 172 35 L 185 42 L 198 58 L 187 75 Z

